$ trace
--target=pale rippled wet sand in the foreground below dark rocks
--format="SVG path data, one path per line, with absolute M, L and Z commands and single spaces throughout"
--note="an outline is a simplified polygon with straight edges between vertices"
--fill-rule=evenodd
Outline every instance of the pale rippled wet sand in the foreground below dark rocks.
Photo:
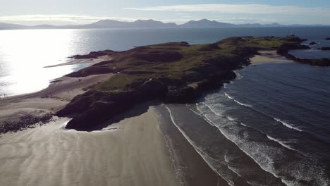
M 67 121 L 1 135 L 0 185 L 178 185 L 154 109 L 102 132 Z

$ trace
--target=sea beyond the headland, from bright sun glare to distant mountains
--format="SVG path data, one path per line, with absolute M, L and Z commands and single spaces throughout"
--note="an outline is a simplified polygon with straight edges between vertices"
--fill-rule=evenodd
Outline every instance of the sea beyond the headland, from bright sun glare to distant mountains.
M 27 94 L 44 89 L 49 81 L 89 64 L 44 68 L 71 61 L 76 54 L 164 42 L 207 44 L 233 36 L 285 36 L 295 34 L 319 46 L 330 46 L 330 27 L 264 27 L 211 29 L 82 29 L 0 30 L 0 97 Z M 293 51 L 300 57 L 329 57 L 330 51 Z

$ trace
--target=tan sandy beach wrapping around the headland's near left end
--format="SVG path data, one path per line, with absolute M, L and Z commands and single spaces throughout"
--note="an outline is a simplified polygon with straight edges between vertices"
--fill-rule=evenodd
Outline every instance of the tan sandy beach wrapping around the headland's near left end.
M 64 76 L 42 91 L 1 99 L 0 123 L 55 113 L 112 76 Z M 173 123 L 161 132 L 159 116 L 144 106 L 93 132 L 65 130 L 70 118 L 55 117 L 0 134 L 0 185 L 219 185 L 219 176 Z

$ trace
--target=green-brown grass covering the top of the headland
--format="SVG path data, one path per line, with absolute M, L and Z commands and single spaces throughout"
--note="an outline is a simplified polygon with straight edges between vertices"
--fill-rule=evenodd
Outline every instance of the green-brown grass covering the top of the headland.
M 167 43 L 142 46 L 124 51 L 114 56 L 114 63 L 103 68 L 120 70 L 106 82 L 95 85 L 94 89 L 114 91 L 129 89 L 135 82 L 149 80 L 155 77 L 180 79 L 193 73 L 194 69 L 202 66 L 208 58 L 219 56 L 239 56 L 242 49 L 270 50 L 286 43 L 286 39 L 275 37 L 233 37 L 215 44 Z

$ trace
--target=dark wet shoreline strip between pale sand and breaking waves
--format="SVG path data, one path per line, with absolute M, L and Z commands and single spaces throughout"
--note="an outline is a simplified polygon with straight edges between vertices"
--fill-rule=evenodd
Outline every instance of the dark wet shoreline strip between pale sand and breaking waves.
M 157 112 L 161 117 L 160 128 L 171 154 L 172 166 L 181 185 L 228 185 L 173 123 L 166 106 L 157 106 Z

